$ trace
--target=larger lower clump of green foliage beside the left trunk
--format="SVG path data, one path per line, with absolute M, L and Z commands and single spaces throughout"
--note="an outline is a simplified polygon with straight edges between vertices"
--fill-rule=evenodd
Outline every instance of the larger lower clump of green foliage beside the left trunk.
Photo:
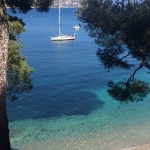
M 20 55 L 20 48 L 21 46 L 15 41 L 9 41 L 7 81 L 8 97 L 12 100 L 20 93 L 32 89 L 30 75 L 33 69 L 27 65 L 25 57 Z

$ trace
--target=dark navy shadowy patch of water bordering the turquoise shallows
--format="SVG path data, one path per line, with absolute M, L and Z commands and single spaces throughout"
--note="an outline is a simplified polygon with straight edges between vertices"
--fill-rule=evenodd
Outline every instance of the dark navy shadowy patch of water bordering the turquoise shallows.
M 23 119 L 54 118 L 72 115 L 88 115 L 92 111 L 104 106 L 97 96 L 89 92 L 70 92 L 63 93 L 38 102 L 31 106 L 19 106 L 10 110 L 13 116 L 10 121 Z M 28 108 L 27 108 L 28 107 Z M 19 113 L 17 113 L 19 112 Z

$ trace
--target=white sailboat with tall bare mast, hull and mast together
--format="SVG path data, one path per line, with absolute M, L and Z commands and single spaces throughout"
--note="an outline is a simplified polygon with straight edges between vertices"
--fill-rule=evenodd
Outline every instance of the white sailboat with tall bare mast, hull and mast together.
M 60 31 L 60 0 L 58 3 L 58 36 L 51 37 L 51 41 L 68 41 L 68 40 L 75 40 L 75 34 L 73 35 L 63 35 Z

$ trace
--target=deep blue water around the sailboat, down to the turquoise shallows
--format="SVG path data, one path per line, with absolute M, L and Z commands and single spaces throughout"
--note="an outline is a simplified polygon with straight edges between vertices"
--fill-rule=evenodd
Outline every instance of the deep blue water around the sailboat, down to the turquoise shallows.
M 72 29 L 79 23 L 74 13 L 75 9 L 63 9 L 61 14 L 62 32 L 76 33 L 76 40 L 69 42 L 50 42 L 53 20 L 57 21 L 57 18 L 53 19 L 56 17 L 53 14 L 57 14 L 57 9 L 52 9 L 49 14 L 33 10 L 27 15 L 19 15 L 27 23 L 21 52 L 34 68 L 34 89 L 12 103 L 14 107 L 20 107 L 23 113 L 15 118 L 10 117 L 10 120 L 87 115 L 104 105 L 94 94 L 84 91 L 105 86 L 109 76 L 102 74 L 104 70 L 96 57 L 94 40 L 82 28 L 79 31 Z M 57 22 L 55 24 L 57 30 Z M 24 106 L 34 107 L 34 113 L 24 113 Z

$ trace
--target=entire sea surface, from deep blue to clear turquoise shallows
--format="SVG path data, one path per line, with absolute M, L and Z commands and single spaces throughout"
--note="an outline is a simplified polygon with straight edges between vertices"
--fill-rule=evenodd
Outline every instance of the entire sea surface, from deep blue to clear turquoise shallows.
M 119 103 L 107 94 L 109 80 L 131 71 L 107 72 L 96 57 L 98 46 L 81 28 L 75 9 L 62 9 L 62 32 L 76 40 L 50 42 L 57 29 L 57 9 L 19 14 L 27 23 L 21 53 L 34 68 L 34 89 L 8 102 L 13 148 L 121 149 L 150 141 L 150 96 L 138 103 Z M 147 80 L 145 71 L 137 76 Z

